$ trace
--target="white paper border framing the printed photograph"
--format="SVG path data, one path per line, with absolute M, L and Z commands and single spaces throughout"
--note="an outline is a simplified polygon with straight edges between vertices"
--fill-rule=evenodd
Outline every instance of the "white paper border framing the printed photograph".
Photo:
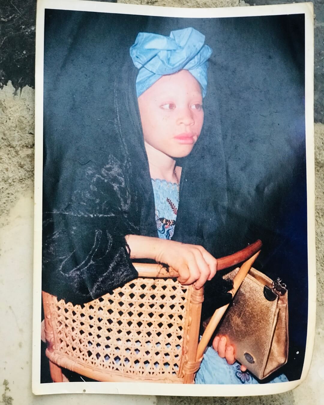
M 160 17 L 215 18 L 266 15 L 305 15 L 305 127 L 307 171 L 307 244 L 308 244 L 308 328 L 305 360 L 301 379 L 258 385 L 199 385 L 114 382 L 63 382 L 40 384 L 41 278 L 42 278 L 42 189 L 43 189 L 43 68 L 45 9 L 95 11 Z M 34 207 L 34 285 L 32 392 L 34 394 L 105 393 L 175 396 L 253 396 L 291 390 L 305 380 L 311 365 L 315 336 L 315 164 L 313 127 L 313 4 L 294 3 L 271 6 L 187 9 L 159 6 L 115 4 L 85 0 L 38 0 L 36 15 L 35 66 L 35 207 Z M 166 386 L 167 385 L 167 386 Z

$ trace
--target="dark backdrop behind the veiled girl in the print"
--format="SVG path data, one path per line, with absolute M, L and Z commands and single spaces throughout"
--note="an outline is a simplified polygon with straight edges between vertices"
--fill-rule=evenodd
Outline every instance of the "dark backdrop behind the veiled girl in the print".
M 290 354 L 280 373 L 298 379 L 308 300 L 303 15 L 181 19 L 48 10 L 45 144 L 57 159 L 74 147 L 107 148 L 113 72 L 137 33 L 189 26 L 213 49 L 205 120 L 217 115 L 221 123 L 232 215 L 221 242 L 230 253 L 262 239 L 256 268 L 281 277 L 289 290 Z M 43 357 L 42 382 L 50 381 L 46 367 Z

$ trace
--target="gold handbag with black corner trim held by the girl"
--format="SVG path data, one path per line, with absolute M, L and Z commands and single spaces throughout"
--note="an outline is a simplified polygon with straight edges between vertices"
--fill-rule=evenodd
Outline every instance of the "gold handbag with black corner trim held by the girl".
M 238 269 L 225 278 L 233 279 Z M 288 292 L 276 281 L 252 268 L 234 296 L 217 335 L 234 345 L 235 358 L 263 379 L 288 359 Z

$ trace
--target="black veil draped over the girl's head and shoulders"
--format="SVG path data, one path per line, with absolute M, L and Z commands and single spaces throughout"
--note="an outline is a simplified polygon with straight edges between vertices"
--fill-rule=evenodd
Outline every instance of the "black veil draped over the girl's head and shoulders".
M 92 138 L 81 145 L 68 143 L 62 151 L 64 156 L 50 159 L 53 145 L 45 137 L 43 289 L 73 302 L 97 298 L 137 276 L 124 240 L 126 234 L 157 237 L 136 74 L 128 59 L 122 68 L 111 72 L 115 77 L 114 125 L 104 138 L 97 139 L 98 145 Z M 215 226 L 211 224 L 220 224 L 220 218 L 212 196 L 218 190 L 220 202 L 226 187 L 219 121 L 212 127 L 212 140 L 198 142 L 194 154 L 181 161 L 181 198 L 173 240 L 217 251 Z M 200 139 L 205 136 L 202 133 Z M 60 143 L 57 139 L 54 142 Z M 102 143 L 106 145 L 102 147 Z M 210 150 L 222 158 L 211 160 Z M 220 206 L 224 211 L 224 201 Z M 222 295 L 230 284 L 220 276 L 216 279 L 214 294 L 220 294 L 222 305 L 230 299 L 228 294 Z

